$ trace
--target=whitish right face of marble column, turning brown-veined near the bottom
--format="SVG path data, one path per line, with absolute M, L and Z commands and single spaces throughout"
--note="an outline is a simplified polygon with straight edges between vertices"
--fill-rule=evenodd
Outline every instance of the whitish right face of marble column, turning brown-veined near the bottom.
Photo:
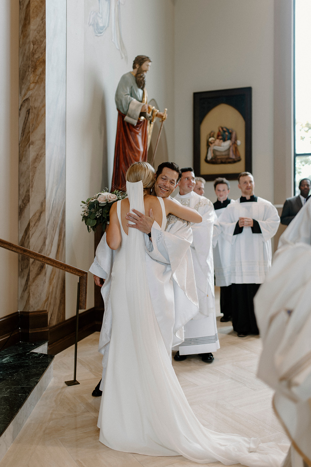
M 46 254 L 65 262 L 66 2 L 46 3 Z M 57 66 L 55 66 L 57 64 Z M 65 319 L 65 273 L 47 268 L 49 325 Z

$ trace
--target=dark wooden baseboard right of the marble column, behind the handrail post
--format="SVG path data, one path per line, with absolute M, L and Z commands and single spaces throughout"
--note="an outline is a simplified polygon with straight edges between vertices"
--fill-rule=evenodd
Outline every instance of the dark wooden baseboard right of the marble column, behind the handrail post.
M 78 340 L 84 339 L 102 327 L 104 310 L 90 308 L 79 313 Z M 48 354 L 56 355 L 72 346 L 76 338 L 76 317 L 66 319 L 62 323 L 49 328 Z

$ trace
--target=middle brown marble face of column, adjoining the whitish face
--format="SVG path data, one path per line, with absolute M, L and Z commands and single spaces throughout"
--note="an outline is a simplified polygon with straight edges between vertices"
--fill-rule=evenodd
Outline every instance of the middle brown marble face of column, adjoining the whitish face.
M 45 1 L 30 1 L 30 249 L 46 254 Z M 46 308 L 46 266 L 30 260 L 30 311 Z

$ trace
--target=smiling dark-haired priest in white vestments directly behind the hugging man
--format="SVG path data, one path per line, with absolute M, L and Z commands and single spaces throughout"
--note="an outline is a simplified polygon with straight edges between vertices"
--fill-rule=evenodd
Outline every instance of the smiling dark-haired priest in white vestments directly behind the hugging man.
M 185 340 L 173 350 L 178 352 L 174 360 L 185 360 L 187 355 L 200 354 L 202 361 L 214 360 L 212 352 L 219 349 L 215 314 L 213 224 L 216 220 L 212 202 L 194 193 L 194 171 L 191 167 L 181 169 L 180 193 L 174 197 L 182 205 L 198 211 L 203 217 L 200 227 L 192 225 L 191 245 L 194 276 L 199 299 L 199 313 L 184 326 Z

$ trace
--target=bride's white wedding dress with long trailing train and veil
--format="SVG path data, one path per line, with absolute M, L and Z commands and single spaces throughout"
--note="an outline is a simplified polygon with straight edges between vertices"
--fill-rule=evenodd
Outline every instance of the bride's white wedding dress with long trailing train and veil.
M 142 182 L 126 182 L 126 188 L 130 209 L 145 212 Z M 144 234 L 136 229 L 124 233 L 120 203 L 122 241 L 112 269 L 112 331 L 97 424 L 99 440 L 117 451 L 183 455 L 201 464 L 281 466 L 285 454 L 276 443 L 213 432 L 195 417 L 152 309 Z

